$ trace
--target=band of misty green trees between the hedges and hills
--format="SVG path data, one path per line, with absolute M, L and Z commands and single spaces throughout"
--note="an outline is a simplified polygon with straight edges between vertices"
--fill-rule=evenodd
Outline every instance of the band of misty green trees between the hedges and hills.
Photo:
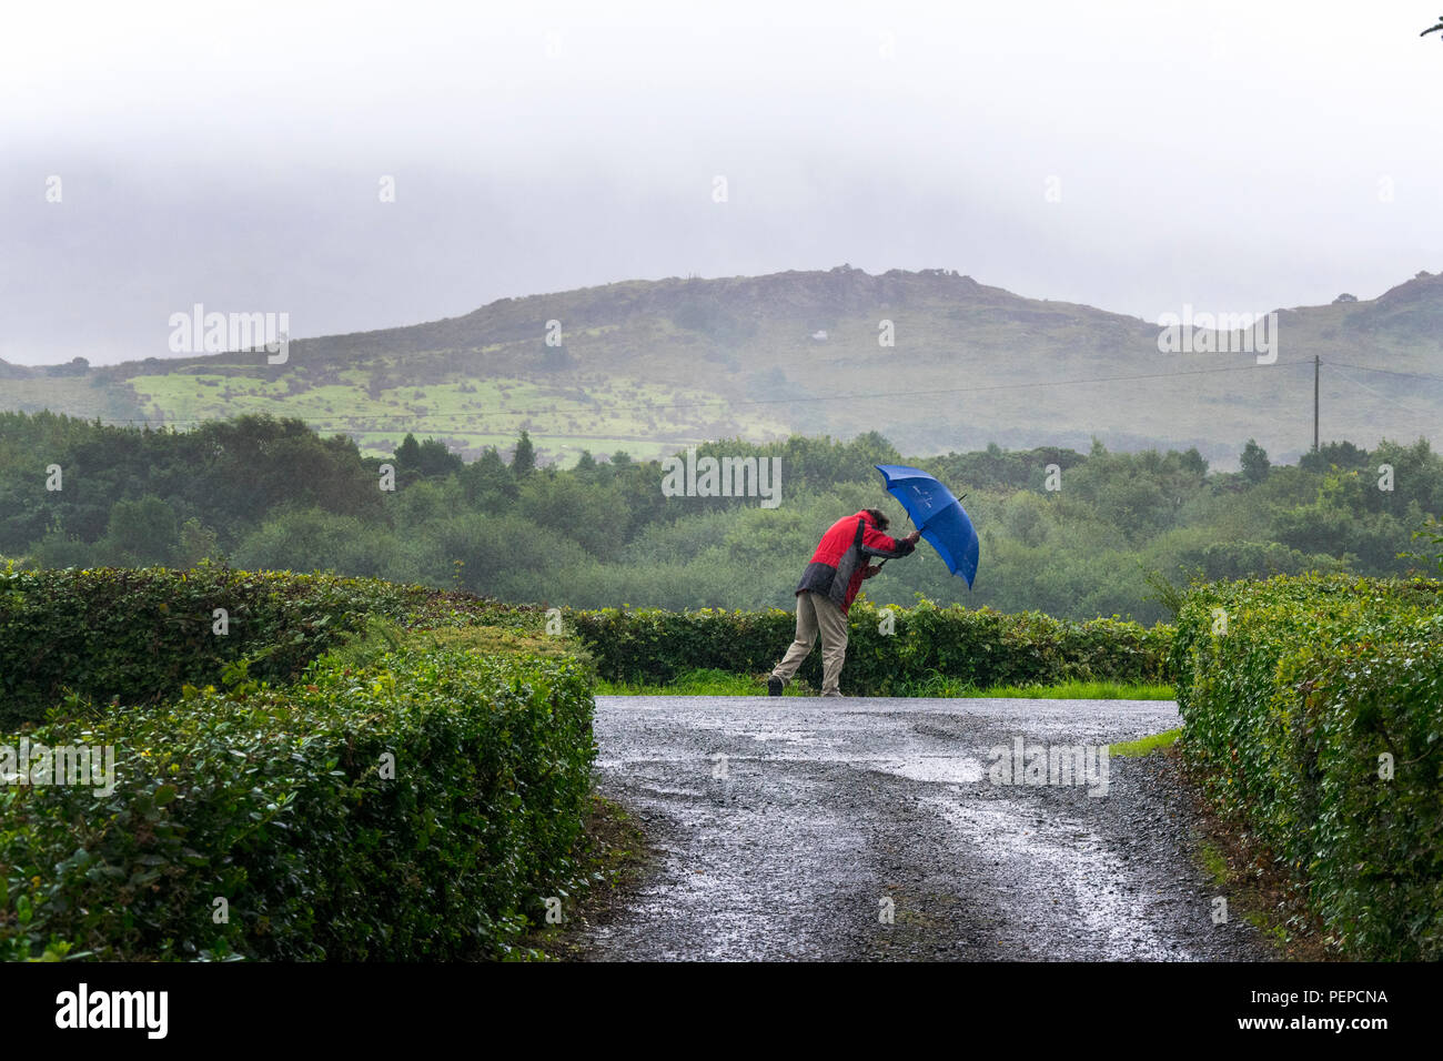
M 879 603 L 939 602 L 1087 619 L 1166 618 L 1167 586 L 1304 570 L 1398 575 L 1414 533 L 1443 514 L 1443 458 L 1426 440 L 1335 442 L 1273 465 L 1251 440 L 1241 471 L 1196 450 L 1061 447 L 905 456 L 877 433 L 848 442 L 716 440 L 698 458 L 779 458 L 781 505 L 664 497 L 658 460 L 583 453 L 537 466 L 463 462 L 408 435 L 390 458 L 296 419 L 241 416 L 195 430 L 0 414 L 0 554 L 22 564 L 335 570 L 462 588 L 514 602 L 791 608 L 823 530 L 882 507 L 876 463 L 947 482 L 981 536 L 968 592 L 925 546 L 867 583 Z M 382 489 L 390 466 L 394 489 Z

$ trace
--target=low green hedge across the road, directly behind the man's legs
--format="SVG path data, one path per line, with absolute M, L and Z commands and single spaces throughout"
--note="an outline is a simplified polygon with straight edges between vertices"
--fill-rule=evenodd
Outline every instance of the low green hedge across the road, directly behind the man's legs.
M 895 629 L 883 634 L 882 612 Z M 1039 612 L 1006 614 L 990 608 L 876 609 L 866 601 L 848 616 L 843 691 L 853 696 L 905 694 L 934 676 L 993 684 L 1068 680 L 1146 683 L 1166 680 L 1172 631 L 1118 619 L 1071 622 Z M 701 609 L 573 611 L 567 614 L 613 681 L 670 681 L 693 668 L 765 674 L 782 658 L 797 631 L 795 614 Z M 801 676 L 821 684 L 821 654 L 812 652 Z

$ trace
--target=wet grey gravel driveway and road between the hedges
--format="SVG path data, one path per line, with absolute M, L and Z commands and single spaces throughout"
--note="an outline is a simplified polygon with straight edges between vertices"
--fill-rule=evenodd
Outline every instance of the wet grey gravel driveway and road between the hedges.
M 1102 771 L 1098 746 L 1176 728 L 1172 702 L 596 706 L 597 788 L 658 856 L 577 927 L 595 960 L 1270 957 L 1245 921 L 1214 924 L 1163 756 Z

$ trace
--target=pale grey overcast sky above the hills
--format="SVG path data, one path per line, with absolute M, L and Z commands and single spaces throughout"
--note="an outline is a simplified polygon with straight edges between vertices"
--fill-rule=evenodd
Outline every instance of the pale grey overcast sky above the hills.
M 9 4 L 0 358 L 844 261 L 1149 320 L 1372 297 L 1443 270 L 1439 7 Z

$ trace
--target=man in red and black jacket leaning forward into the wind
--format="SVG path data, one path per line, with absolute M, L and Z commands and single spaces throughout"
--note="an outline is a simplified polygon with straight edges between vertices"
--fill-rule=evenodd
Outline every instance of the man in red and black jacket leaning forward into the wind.
M 766 680 L 766 691 L 771 696 L 782 694 L 782 687 L 811 652 L 818 631 L 821 631 L 821 694 L 841 696 L 837 680 L 841 677 L 841 663 L 847 655 L 847 609 L 851 608 L 851 599 L 857 596 L 861 580 L 882 570 L 882 564 L 869 564 L 864 557 L 908 556 L 922 537 L 921 531 L 912 531 L 905 538 L 889 538 L 882 533 L 886 528 L 886 515 L 876 508 L 863 508 L 856 515 L 837 520 L 821 536 L 821 543 L 797 586 L 797 639 Z

